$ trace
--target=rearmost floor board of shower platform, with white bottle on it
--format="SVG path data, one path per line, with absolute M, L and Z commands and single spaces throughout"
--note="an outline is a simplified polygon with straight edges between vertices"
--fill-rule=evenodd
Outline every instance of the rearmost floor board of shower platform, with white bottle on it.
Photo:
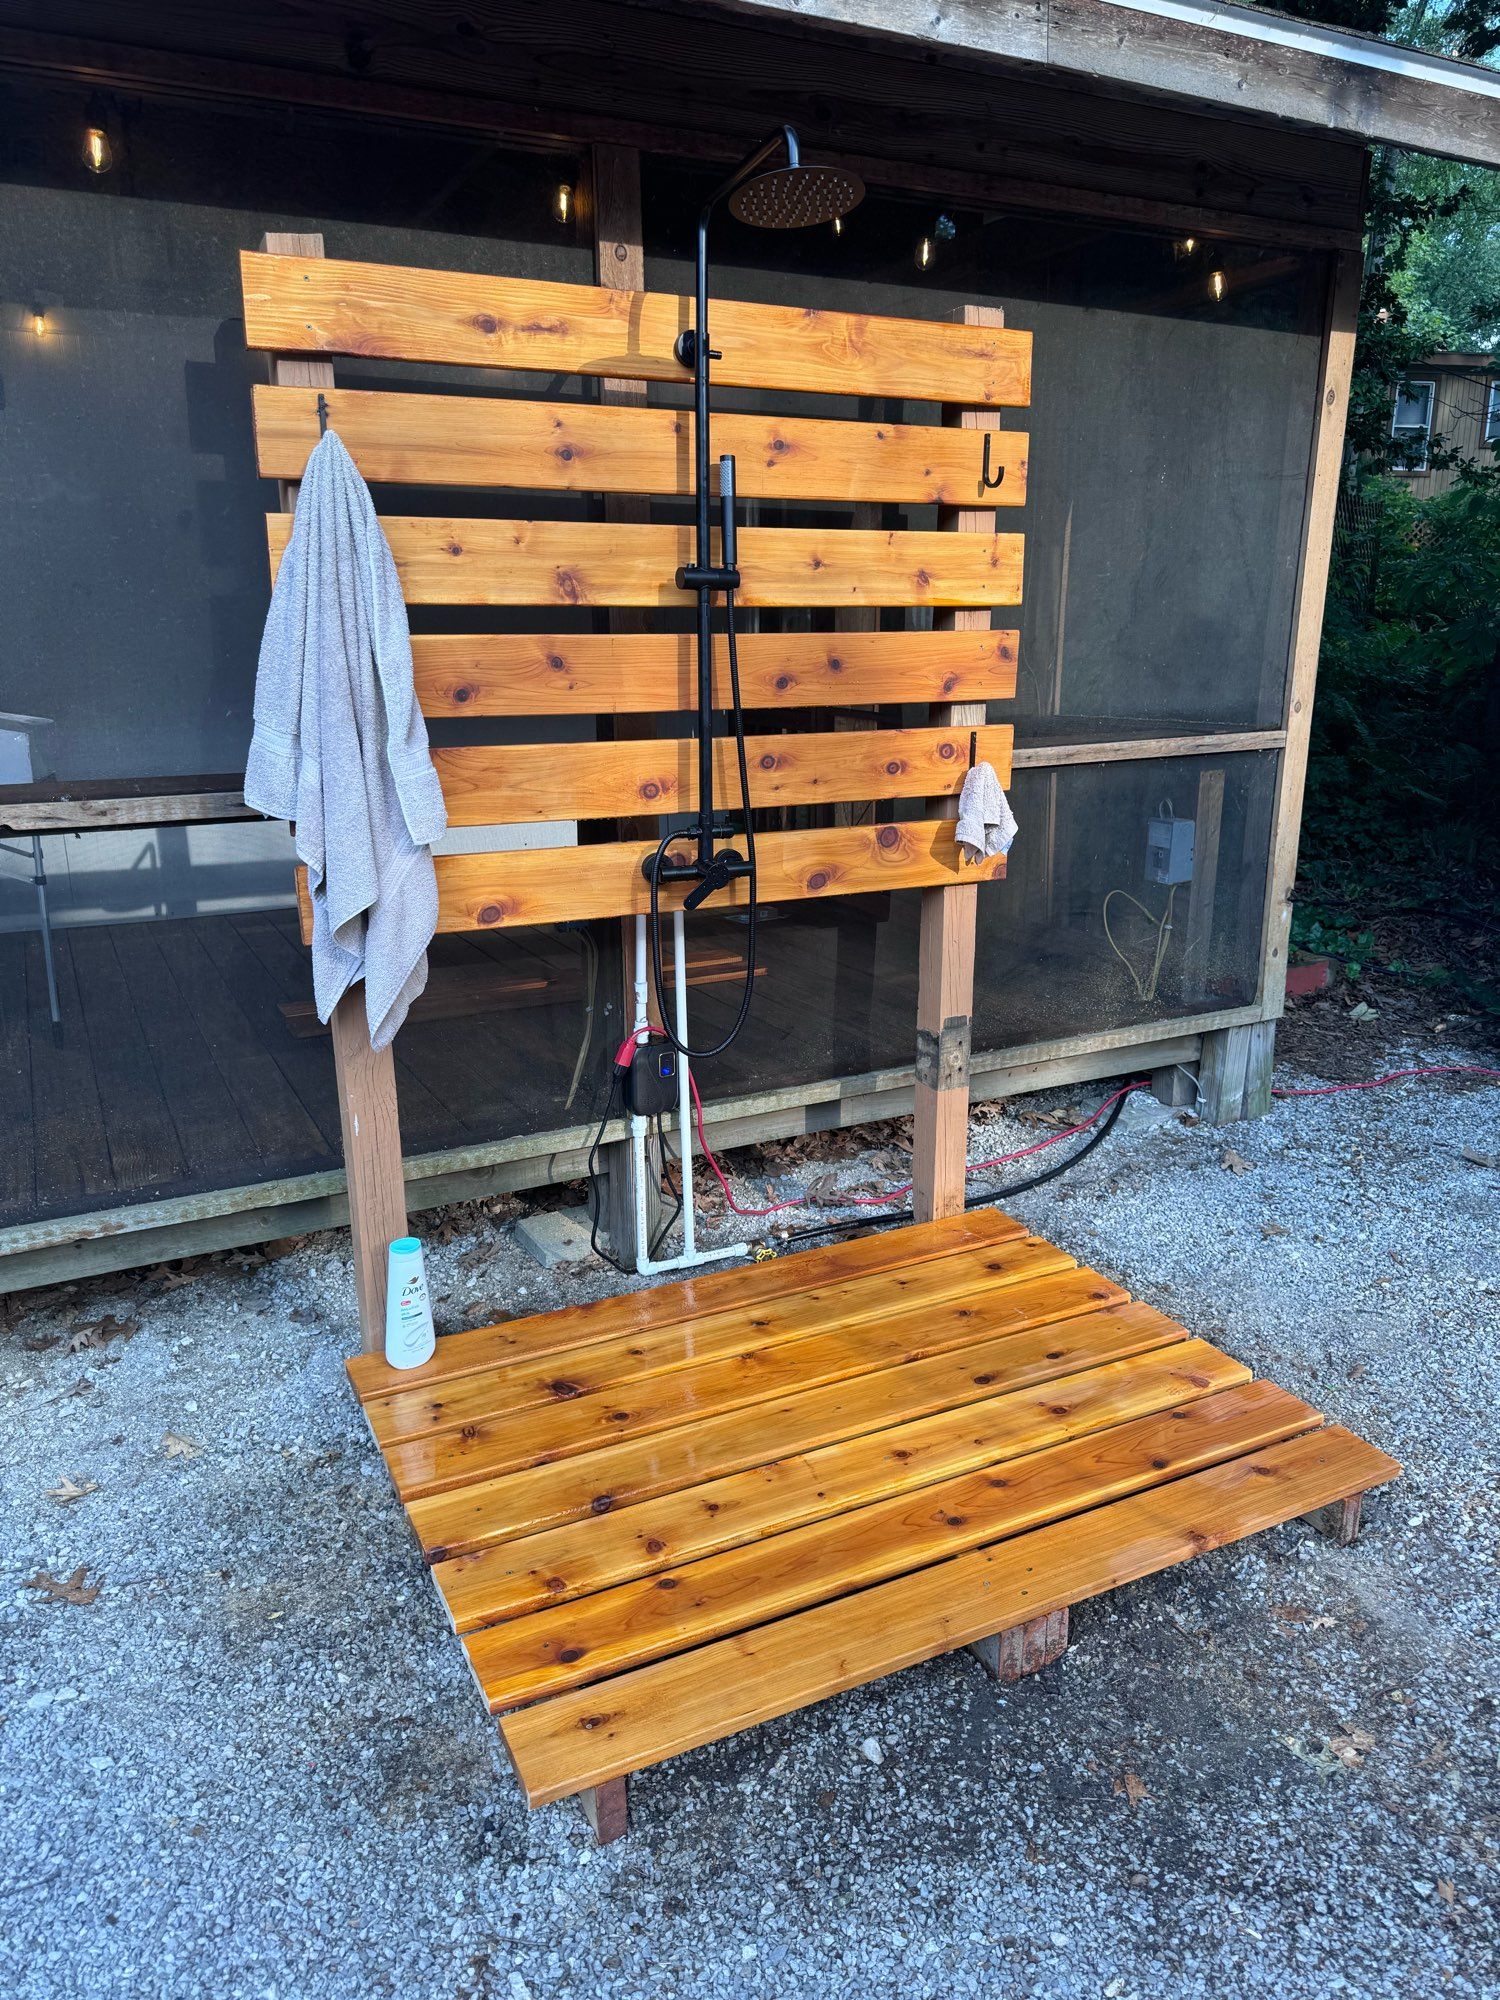
M 848 1242 L 824 1244 L 818 1250 L 792 1250 L 764 1264 L 704 1270 L 642 1292 L 620 1292 L 614 1298 L 592 1298 L 580 1306 L 502 1320 L 496 1326 L 476 1326 L 464 1334 L 444 1334 L 432 1360 L 420 1368 L 392 1368 L 380 1354 L 356 1354 L 346 1366 L 354 1394 L 360 1402 L 370 1402 L 394 1390 L 428 1390 L 438 1382 L 456 1382 L 506 1362 L 566 1354 L 622 1334 L 660 1332 L 716 1312 L 750 1312 L 816 1286 L 866 1278 L 882 1270 L 906 1270 L 930 1258 L 1014 1242 L 1024 1234 L 1022 1224 L 998 1208 L 970 1208 L 968 1214 L 926 1228 L 852 1236 Z

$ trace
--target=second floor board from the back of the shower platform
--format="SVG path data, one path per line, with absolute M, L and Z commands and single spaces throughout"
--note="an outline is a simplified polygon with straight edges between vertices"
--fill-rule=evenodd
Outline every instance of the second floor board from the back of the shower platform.
M 996 1292 L 1076 1268 L 1078 1260 L 1066 1250 L 1040 1236 L 1018 1236 L 986 1250 L 930 1258 L 910 1270 L 838 1278 L 788 1298 L 766 1300 L 752 1312 L 734 1306 L 678 1326 L 596 1340 L 566 1360 L 546 1354 L 432 1388 L 396 1390 L 366 1402 L 364 1414 L 382 1450 L 406 1438 L 436 1438 L 470 1424 L 518 1416 L 522 1410 L 550 1408 L 564 1424 L 576 1418 L 582 1426 L 590 1408 L 586 1398 L 606 1392 L 638 1394 L 648 1376 L 674 1368 L 702 1370 L 728 1356 L 754 1364 L 786 1342 L 806 1342 L 828 1332 L 850 1336 L 876 1320 L 900 1318 L 904 1326 L 916 1326 L 922 1314 L 950 1308 L 956 1332 L 946 1344 L 956 1344 L 966 1320 L 980 1320 Z M 930 1334 L 926 1320 L 922 1334 Z M 612 1420 L 616 1414 L 610 1410 Z

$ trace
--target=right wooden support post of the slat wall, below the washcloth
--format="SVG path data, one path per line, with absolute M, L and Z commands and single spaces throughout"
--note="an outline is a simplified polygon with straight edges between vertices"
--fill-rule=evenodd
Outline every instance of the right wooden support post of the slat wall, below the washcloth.
M 966 326 L 1004 326 L 998 306 L 964 306 Z M 968 430 L 998 430 L 994 410 L 948 410 L 946 422 Z M 944 508 L 942 526 L 964 534 L 994 534 L 992 508 Z M 936 630 L 990 630 L 988 610 L 936 612 Z M 984 702 L 942 702 L 940 726 L 978 728 Z M 934 816 L 958 816 L 958 800 L 934 802 Z M 916 1102 L 912 1116 L 912 1212 L 938 1222 L 964 1208 L 968 1164 L 968 1056 L 974 1014 L 974 928 L 978 884 L 954 882 L 922 890 L 922 930 L 916 974 Z

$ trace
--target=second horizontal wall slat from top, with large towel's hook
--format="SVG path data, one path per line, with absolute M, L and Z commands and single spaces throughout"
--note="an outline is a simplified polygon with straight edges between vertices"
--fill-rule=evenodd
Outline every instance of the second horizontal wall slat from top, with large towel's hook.
M 256 384 L 256 462 L 300 480 L 318 444 L 318 396 Z M 508 486 L 528 492 L 690 494 L 692 410 L 510 396 L 402 396 L 330 390 L 328 422 L 366 480 L 402 486 Z M 986 506 L 1026 504 L 1026 434 L 994 432 L 1004 468 Z M 732 452 L 746 500 L 976 504 L 984 440 L 936 424 L 850 424 L 812 416 L 714 414 L 714 450 Z

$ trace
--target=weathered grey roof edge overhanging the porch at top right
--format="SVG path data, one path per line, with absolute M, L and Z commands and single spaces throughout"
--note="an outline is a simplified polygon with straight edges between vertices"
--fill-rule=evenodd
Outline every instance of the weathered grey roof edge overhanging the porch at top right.
M 1500 166 L 1500 72 L 1212 0 L 714 0 L 956 62 Z

